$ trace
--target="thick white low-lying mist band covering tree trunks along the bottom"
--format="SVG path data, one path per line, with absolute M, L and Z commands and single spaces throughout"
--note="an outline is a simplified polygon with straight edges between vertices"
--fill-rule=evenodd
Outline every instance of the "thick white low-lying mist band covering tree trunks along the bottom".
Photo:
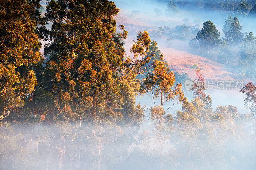
M 190 120 L 152 128 L 110 122 L 0 123 L 0 169 L 255 169 L 250 117 Z

